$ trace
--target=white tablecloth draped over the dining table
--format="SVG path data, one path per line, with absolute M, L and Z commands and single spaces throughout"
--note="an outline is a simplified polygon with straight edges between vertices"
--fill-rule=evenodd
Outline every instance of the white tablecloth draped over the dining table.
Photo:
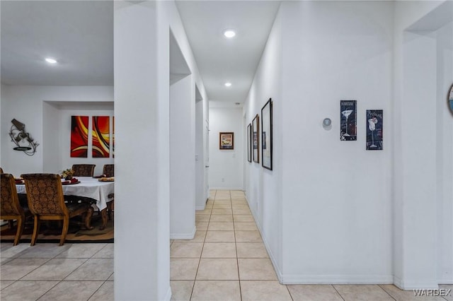
M 114 182 L 100 182 L 92 177 L 76 177 L 79 179 L 79 184 L 63 185 L 63 194 L 72 196 L 84 196 L 95 199 L 96 206 L 99 210 L 107 208 L 107 202 L 112 201 L 108 195 L 115 191 Z M 18 194 L 26 194 L 25 185 L 16 185 Z

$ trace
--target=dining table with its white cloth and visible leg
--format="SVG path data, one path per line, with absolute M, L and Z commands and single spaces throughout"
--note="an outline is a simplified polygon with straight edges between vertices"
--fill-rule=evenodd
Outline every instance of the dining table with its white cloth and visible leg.
M 76 181 L 64 181 L 62 188 L 65 199 L 89 201 L 101 211 L 102 225 L 100 230 L 107 225 L 107 203 L 113 201 L 115 184 L 113 179 L 95 177 L 76 177 Z M 26 194 L 25 184 L 16 182 L 18 194 Z

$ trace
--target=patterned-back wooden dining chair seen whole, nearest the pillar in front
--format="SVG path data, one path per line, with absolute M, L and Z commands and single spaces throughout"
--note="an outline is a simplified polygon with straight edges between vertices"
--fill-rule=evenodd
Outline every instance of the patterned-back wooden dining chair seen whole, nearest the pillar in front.
M 34 246 L 38 238 L 41 220 L 63 220 L 62 236 L 59 245 L 64 244 L 69 229 L 69 219 L 83 216 L 89 225 L 93 207 L 89 203 L 64 203 L 62 181 L 54 174 L 25 174 L 28 207 L 35 216 L 35 225 L 30 245 Z

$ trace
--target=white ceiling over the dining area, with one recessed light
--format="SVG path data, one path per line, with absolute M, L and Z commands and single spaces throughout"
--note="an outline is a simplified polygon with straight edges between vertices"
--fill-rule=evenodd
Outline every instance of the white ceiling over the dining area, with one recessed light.
M 0 9 L 1 83 L 113 85 L 113 2 L 0 1 Z

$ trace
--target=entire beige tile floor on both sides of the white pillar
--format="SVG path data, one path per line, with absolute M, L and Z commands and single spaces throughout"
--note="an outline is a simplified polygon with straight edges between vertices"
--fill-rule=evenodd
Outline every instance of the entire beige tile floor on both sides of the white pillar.
M 242 191 L 211 191 L 196 225 L 193 240 L 170 244 L 172 300 L 453 301 L 394 285 L 281 285 Z M 2 243 L 0 259 L 2 301 L 114 300 L 113 244 Z

